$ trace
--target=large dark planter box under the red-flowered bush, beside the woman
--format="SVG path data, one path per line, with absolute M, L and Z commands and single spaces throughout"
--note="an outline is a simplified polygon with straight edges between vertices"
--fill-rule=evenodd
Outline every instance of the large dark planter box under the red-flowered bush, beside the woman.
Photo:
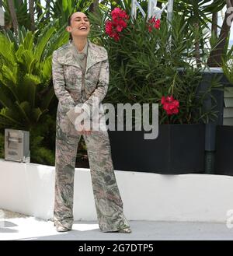
M 204 173 L 204 124 L 162 124 L 157 139 L 144 139 L 144 131 L 108 132 L 115 170 Z

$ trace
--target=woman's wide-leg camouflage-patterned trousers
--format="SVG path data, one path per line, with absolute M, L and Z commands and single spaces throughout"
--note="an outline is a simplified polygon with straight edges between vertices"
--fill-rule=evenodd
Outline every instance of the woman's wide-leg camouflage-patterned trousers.
M 68 119 L 67 119 L 68 121 Z M 84 137 L 92 179 L 99 228 L 111 232 L 130 227 L 123 214 L 123 202 L 117 186 L 107 131 L 68 134 L 57 123 L 55 153 L 54 224 L 71 229 L 73 217 L 74 175 L 78 142 Z

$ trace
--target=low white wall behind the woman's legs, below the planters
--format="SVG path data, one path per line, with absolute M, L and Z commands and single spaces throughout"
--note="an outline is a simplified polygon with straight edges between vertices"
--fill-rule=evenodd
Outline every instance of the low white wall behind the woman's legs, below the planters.
M 115 170 L 127 219 L 226 222 L 233 177 Z M 0 159 L 0 209 L 50 219 L 54 167 Z M 75 169 L 75 220 L 96 220 L 89 169 Z

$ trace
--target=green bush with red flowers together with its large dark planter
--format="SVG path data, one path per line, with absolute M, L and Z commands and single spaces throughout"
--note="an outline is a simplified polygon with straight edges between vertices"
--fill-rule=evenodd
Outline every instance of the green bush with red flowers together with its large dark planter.
M 144 139 L 144 129 L 109 131 L 115 169 L 203 173 L 205 123 L 217 118 L 213 107 L 205 110 L 203 103 L 219 83 L 214 80 L 205 91 L 200 89 L 201 68 L 193 65 L 196 35 L 179 15 L 174 16 L 171 30 L 163 18 L 129 19 L 120 8 L 108 18 L 99 37 L 110 58 L 104 102 L 113 103 L 116 110 L 117 103 L 159 106 L 157 139 Z

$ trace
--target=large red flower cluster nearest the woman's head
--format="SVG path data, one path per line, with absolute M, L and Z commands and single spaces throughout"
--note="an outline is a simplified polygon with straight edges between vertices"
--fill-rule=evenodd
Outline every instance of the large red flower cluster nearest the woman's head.
M 114 40 L 120 40 L 120 32 L 127 27 L 126 20 L 130 18 L 127 13 L 119 7 L 111 12 L 112 21 L 107 20 L 105 23 L 105 31 Z

